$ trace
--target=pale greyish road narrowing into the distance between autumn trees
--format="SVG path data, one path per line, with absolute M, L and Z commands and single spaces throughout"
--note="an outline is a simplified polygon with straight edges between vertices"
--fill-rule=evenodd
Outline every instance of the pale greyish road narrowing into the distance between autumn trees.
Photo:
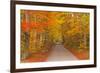
M 66 61 L 77 60 L 77 58 L 63 45 L 55 45 L 47 59 L 47 61 Z

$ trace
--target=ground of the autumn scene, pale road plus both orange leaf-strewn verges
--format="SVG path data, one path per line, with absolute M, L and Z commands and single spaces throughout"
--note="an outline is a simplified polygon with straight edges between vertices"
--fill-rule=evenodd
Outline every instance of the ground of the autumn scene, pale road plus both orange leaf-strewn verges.
M 49 52 L 36 53 L 23 62 L 45 62 L 45 61 L 68 61 L 89 59 L 89 52 L 86 50 L 77 51 L 76 49 L 67 49 L 63 45 L 54 45 Z

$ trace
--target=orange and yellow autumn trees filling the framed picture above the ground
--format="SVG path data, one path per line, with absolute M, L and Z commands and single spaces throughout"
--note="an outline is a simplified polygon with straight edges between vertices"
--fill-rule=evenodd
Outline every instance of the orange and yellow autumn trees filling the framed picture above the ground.
M 56 44 L 89 53 L 89 13 L 21 10 L 20 14 L 22 61 L 45 58 Z

